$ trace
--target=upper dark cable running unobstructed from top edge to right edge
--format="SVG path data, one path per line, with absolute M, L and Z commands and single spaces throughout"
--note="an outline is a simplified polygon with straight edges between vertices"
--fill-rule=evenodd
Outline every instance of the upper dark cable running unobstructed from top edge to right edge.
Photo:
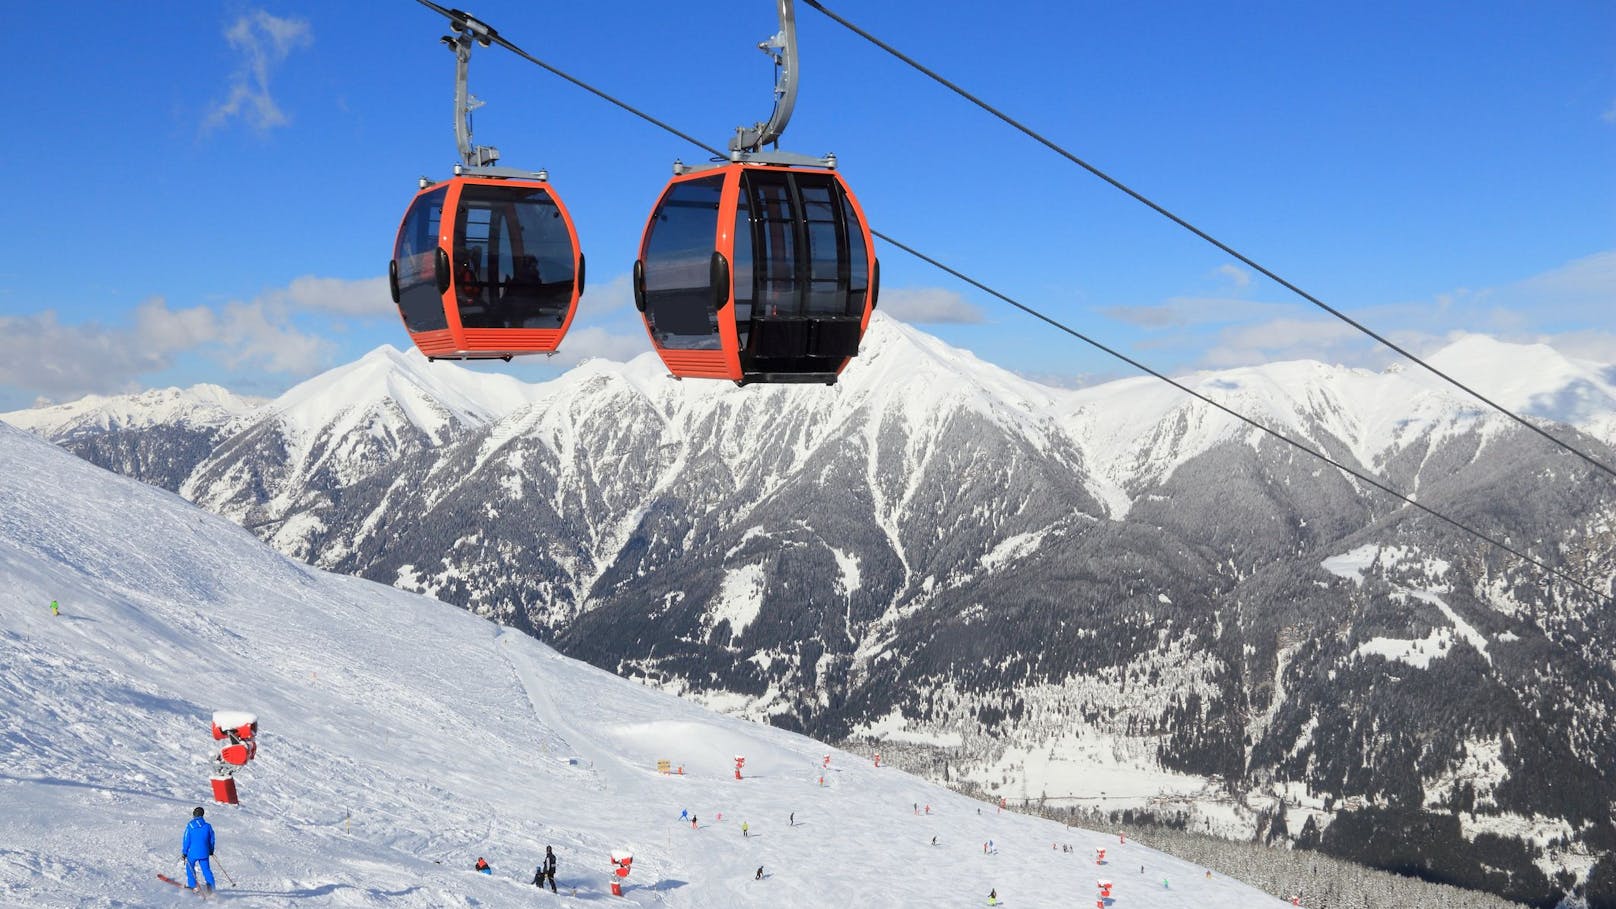
M 879 37 L 876 37 L 876 36 L 869 34 L 868 31 L 865 31 L 865 29 L 861 29 L 861 27 L 855 26 L 853 23 L 850 23 L 850 21 L 844 19 L 842 16 L 839 16 L 839 15 L 832 13 L 831 10 L 827 10 L 827 8 L 824 6 L 824 3 L 819 3 L 819 0 L 803 0 L 803 3 L 808 3 L 808 5 L 810 5 L 810 6 L 813 6 L 814 10 L 819 10 L 819 11 L 821 11 L 821 13 L 824 13 L 824 15 L 826 15 L 827 18 L 831 18 L 831 19 L 832 19 L 832 21 L 835 21 L 837 24 L 844 26 L 844 27 L 845 27 L 845 29 L 848 29 L 850 32 L 853 32 L 853 34 L 856 34 L 858 37 L 861 37 L 861 39 L 868 40 L 869 44 L 874 44 L 874 45 L 876 45 L 876 47 L 879 47 L 881 50 L 886 50 L 886 52 L 887 52 L 887 53 L 890 53 L 892 57 L 897 57 L 897 58 L 898 58 L 898 60 L 902 60 L 903 63 L 908 63 L 908 65 L 910 65 L 910 66 L 913 66 L 915 70 L 918 70 L 918 71 L 924 73 L 924 74 L 926 74 L 926 76 L 929 76 L 929 78 L 931 78 L 932 81 L 936 81 L 937 84 L 941 84 L 941 86 L 947 87 L 947 89 L 949 89 L 949 91 L 952 91 L 953 94 L 957 94 L 957 95 L 963 97 L 965 100 L 968 100 L 968 102 L 974 104 L 976 107 L 979 107 L 979 108 L 986 110 L 987 113 L 992 113 L 992 115 L 994 115 L 994 116 L 997 116 L 999 120 L 1005 121 L 1005 123 L 1007 123 L 1007 125 L 1010 125 L 1012 128 L 1018 129 L 1020 133 L 1023 133 L 1023 134 L 1025 134 L 1025 136 L 1028 136 L 1029 139 L 1033 139 L 1033 141 L 1039 142 L 1041 146 L 1047 147 L 1049 150 L 1055 152 L 1057 155 L 1060 155 L 1060 157 L 1063 157 L 1063 159 L 1070 160 L 1071 163 L 1075 163 L 1075 165 L 1081 167 L 1083 170 L 1086 170 L 1086 171 L 1092 173 L 1094 176 L 1097 176 L 1097 178 L 1104 180 L 1105 183 L 1110 183 L 1110 184 L 1112 184 L 1112 186 L 1115 186 L 1117 189 L 1122 189 L 1123 192 L 1126 192 L 1126 194 L 1128 194 L 1128 196 L 1131 196 L 1133 199 L 1136 199 L 1136 201 L 1143 202 L 1143 204 L 1144 204 L 1144 205 L 1147 205 L 1149 209 L 1152 209 L 1152 210 L 1154 210 L 1155 214 L 1159 214 L 1159 215 L 1165 217 L 1167 220 L 1173 222 L 1175 225 L 1178 225 L 1178 226 L 1181 226 L 1181 228 L 1188 230 L 1189 233 L 1193 233 L 1193 235 L 1199 236 L 1201 239 L 1204 239 L 1204 241 L 1210 243 L 1212 246 L 1218 247 L 1220 251 L 1223 251 L 1223 252 L 1227 252 L 1227 254 L 1233 256 L 1235 259 L 1238 259 L 1238 260 L 1239 260 L 1239 262 L 1243 262 L 1244 265 L 1248 265 L 1248 267 L 1254 268 L 1256 272 L 1262 273 L 1264 277 L 1267 277 L 1267 278 L 1269 278 L 1269 280 L 1272 280 L 1273 283 L 1280 285 L 1281 288 L 1285 288 L 1285 290 L 1288 290 L 1288 291 L 1294 293 L 1296 296 L 1299 296 L 1299 298 L 1306 299 L 1307 302 L 1311 302 L 1311 304 L 1317 306 L 1319 309 L 1322 309 L 1322 311 L 1328 312 L 1330 315 L 1335 315 L 1335 317 L 1336 317 L 1336 319 L 1340 319 L 1341 322 L 1346 322 L 1346 323 L 1348 323 L 1348 325 L 1351 325 L 1353 328 L 1357 328 L 1357 330 L 1359 330 L 1359 332 L 1362 332 L 1364 335 L 1369 335 L 1370 338 L 1374 338 L 1374 340 L 1380 341 L 1382 345 L 1385 345 L 1385 346 L 1391 348 L 1393 351 L 1396 351 L 1396 353 L 1403 354 L 1404 357 L 1408 357 L 1408 359 L 1411 359 L 1411 361 L 1417 362 L 1419 366 L 1425 367 L 1425 369 L 1427 369 L 1427 370 L 1429 370 L 1430 374 L 1437 375 L 1438 378 L 1441 378 L 1441 380 L 1443 380 L 1443 382 L 1446 382 L 1448 385 L 1453 385 L 1454 388 L 1458 388 L 1458 390 L 1464 391 L 1466 395 L 1469 395 L 1469 396 L 1475 398 L 1477 401 L 1482 401 L 1483 404 L 1487 404 L 1488 408 L 1492 408 L 1492 409 L 1498 411 L 1500 414 L 1504 414 L 1506 417 L 1509 417 L 1509 419 L 1516 421 L 1517 424 L 1521 424 L 1521 425 L 1527 427 L 1529 430 L 1532 430 L 1532 432 L 1535 432 L 1535 433 L 1542 435 L 1543 438 L 1547 438 L 1547 440 L 1553 442 L 1555 445 L 1558 445 L 1558 446 L 1564 448 L 1566 451 L 1571 451 L 1571 453 L 1572 453 L 1572 454 L 1576 454 L 1577 458 L 1582 458 L 1584 461 L 1587 461 L 1589 464 L 1592 464 L 1592 466 L 1598 467 L 1600 471 L 1605 471 L 1605 472 L 1606 472 L 1606 474 L 1610 474 L 1611 477 L 1616 477 L 1616 467 L 1611 467 L 1611 466 L 1605 464 L 1603 461 L 1600 461 L 1600 459 L 1593 458 L 1592 454 L 1589 454 L 1589 453 L 1582 451 L 1580 448 L 1577 448 L 1577 446 L 1574 446 L 1574 445 L 1571 445 L 1571 443 L 1568 443 L 1568 442 L 1563 442 L 1563 440 L 1556 438 L 1555 435 L 1548 433 L 1548 432 L 1547 432 L 1545 429 L 1538 427 L 1537 424 L 1534 424 L 1534 422 L 1527 421 L 1527 419 L 1526 419 L 1526 417 L 1522 417 L 1521 414 L 1516 414 L 1514 411 L 1511 411 L 1511 409 L 1504 408 L 1503 404 L 1500 404 L 1500 403 L 1493 401 L 1492 398 L 1488 398 L 1488 396 L 1482 395 L 1480 391 L 1477 391 L 1477 390 L 1471 388 L 1469 385 L 1464 385 L 1464 383 L 1462 383 L 1462 382 L 1459 382 L 1458 378 L 1454 378 L 1454 377 L 1448 375 L 1446 372 L 1443 372 L 1443 370 L 1437 369 L 1435 366 L 1432 366 L 1432 364 L 1425 362 L 1424 359 L 1420 359 L 1420 357 L 1414 356 L 1414 354 L 1412 354 L 1412 353 L 1409 353 L 1409 351 L 1408 351 L 1406 348 L 1403 348 L 1403 346 L 1396 345 L 1395 341 L 1391 341 L 1391 340 L 1390 340 L 1390 338 L 1387 338 L 1385 335 L 1380 335 L 1380 333 L 1378 333 L 1378 332 L 1375 332 L 1374 328 L 1369 328 L 1367 325 L 1364 325 L 1364 323 L 1357 322 L 1356 319 L 1353 319 L 1351 315 L 1348 315 L 1348 314 L 1341 312 L 1340 309 L 1335 309 L 1333 306 L 1330 306 L 1330 304 L 1327 304 L 1325 301 L 1322 301 L 1322 299 L 1315 298 L 1314 294 L 1311 294 L 1311 293 L 1304 291 L 1302 288 L 1299 288 L 1299 286 L 1293 285 L 1291 281 L 1286 281 L 1286 280 L 1285 280 L 1285 278 L 1281 278 L 1280 275 L 1277 275 L 1277 273 L 1270 272 L 1269 268 L 1265 268 L 1265 267 L 1259 265 L 1259 264 L 1257 264 L 1256 260 L 1252 260 L 1252 259 L 1251 259 L 1249 256 L 1246 256 L 1246 254 L 1243 254 L 1243 252 L 1236 251 L 1236 249 L 1235 249 L 1235 247 L 1231 247 L 1230 244 L 1227 244 L 1227 243 L 1220 241 L 1218 238 L 1212 236 L 1210 233 L 1207 233 L 1207 231 L 1204 231 L 1204 230 L 1197 228 L 1196 225 L 1193 225 L 1193 223 L 1186 222 L 1185 218 L 1181 218 L 1181 217 L 1175 215 L 1173 212 L 1167 210 L 1167 209 L 1165 209 L 1165 207 L 1162 207 L 1160 204 L 1157 204 L 1157 202 L 1151 201 L 1149 197 L 1146 197 L 1144 194 L 1138 192 L 1136 189 L 1133 189 L 1133 188 L 1131 188 L 1131 186 L 1128 186 L 1126 183 L 1123 183 L 1123 181 L 1117 180 L 1115 176 L 1112 176 L 1112 175 L 1105 173 L 1104 170 L 1100 170 L 1100 168 L 1094 167 L 1092 163 L 1089 163 L 1089 162 L 1086 162 L 1086 160 L 1079 159 L 1078 155 L 1075 155 L 1075 154 L 1068 152 L 1068 150 L 1067 150 L 1067 149 L 1063 149 L 1062 146 L 1058 146 L 1058 144 L 1055 144 L 1054 141 L 1050 141 L 1049 137 L 1046 137 L 1046 136 L 1044 136 L 1042 133 L 1037 133 L 1036 129 L 1033 129 L 1033 128 L 1026 126 L 1026 125 L 1025 125 L 1025 123 L 1021 123 L 1020 120 L 1015 120 L 1013 116 L 1010 116 L 1010 115 L 1004 113 L 1004 112 L 1002 112 L 1002 110 L 999 110 L 997 107 L 994 107 L 994 105 L 991 105 L 991 104 L 987 104 L 987 102 L 984 102 L 983 99 L 976 97 L 974 94 L 971 94 L 971 92 L 965 91 L 965 89 L 963 89 L 963 87 L 960 87 L 958 84 L 955 84 L 955 82 L 952 82 L 952 81 L 945 79 L 945 78 L 944 78 L 944 76 L 941 76 L 941 74 L 939 74 L 937 71 L 934 71 L 934 70 L 928 68 L 926 65 L 920 63 L 920 61 L 918 61 L 918 60 L 915 60 L 913 57 L 910 57 L 910 55 L 903 53 L 902 50 L 898 50 L 898 49 L 892 47 L 890 44 L 887 44 L 887 42 L 881 40 Z

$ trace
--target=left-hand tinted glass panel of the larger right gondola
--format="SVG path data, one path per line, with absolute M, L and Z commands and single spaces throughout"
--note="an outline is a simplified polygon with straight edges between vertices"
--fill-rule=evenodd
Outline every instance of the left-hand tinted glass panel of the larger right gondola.
M 645 320 L 663 348 L 718 349 L 711 264 L 724 176 L 672 184 L 645 238 Z

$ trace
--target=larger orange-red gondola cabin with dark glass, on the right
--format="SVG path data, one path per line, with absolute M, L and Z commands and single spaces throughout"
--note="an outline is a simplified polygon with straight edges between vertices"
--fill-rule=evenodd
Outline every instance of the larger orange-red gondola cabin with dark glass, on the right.
M 727 163 L 675 176 L 633 264 L 635 306 L 669 372 L 835 383 L 881 267 L 834 170 Z

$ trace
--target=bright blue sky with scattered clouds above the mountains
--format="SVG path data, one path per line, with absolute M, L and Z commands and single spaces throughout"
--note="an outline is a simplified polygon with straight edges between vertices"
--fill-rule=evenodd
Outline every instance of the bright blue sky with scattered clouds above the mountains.
M 1462 332 L 1616 362 L 1616 5 L 881 3 L 831 8 L 1327 302 L 1419 349 Z M 456 160 L 446 23 L 410 0 L 74 6 L 6 55 L 0 409 L 215 382 L 273 395 L 409 343 L 381 281 Z M 768 116 L 774 3 L 475 0 L 506 37 L 709 144 Z M 1165 370 L 1351 328 L 808 6 L 784 147 L 835 152 L 876 228 Z M 591 290 L 543 378 L 648 349 L 638 233 L 703 152 L 514 55 L 477 139 L 545 167 Z M 984 359 L 1126 375 L 900 251 L 882 306 Z

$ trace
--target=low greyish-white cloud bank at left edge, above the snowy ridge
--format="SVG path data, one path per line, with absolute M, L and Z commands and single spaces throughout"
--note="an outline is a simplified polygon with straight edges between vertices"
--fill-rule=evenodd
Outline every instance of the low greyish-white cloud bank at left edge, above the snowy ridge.
M 52 311 L 0 315 L 0 385 L 58 400 L 137 390 L 137 378 L 187 354 L 231 370 L 304 375 L 331 353 L 330 341 L 304 335 L 262 302 L 170 309 L 152 298 L 128 325 L 63 325 Z

